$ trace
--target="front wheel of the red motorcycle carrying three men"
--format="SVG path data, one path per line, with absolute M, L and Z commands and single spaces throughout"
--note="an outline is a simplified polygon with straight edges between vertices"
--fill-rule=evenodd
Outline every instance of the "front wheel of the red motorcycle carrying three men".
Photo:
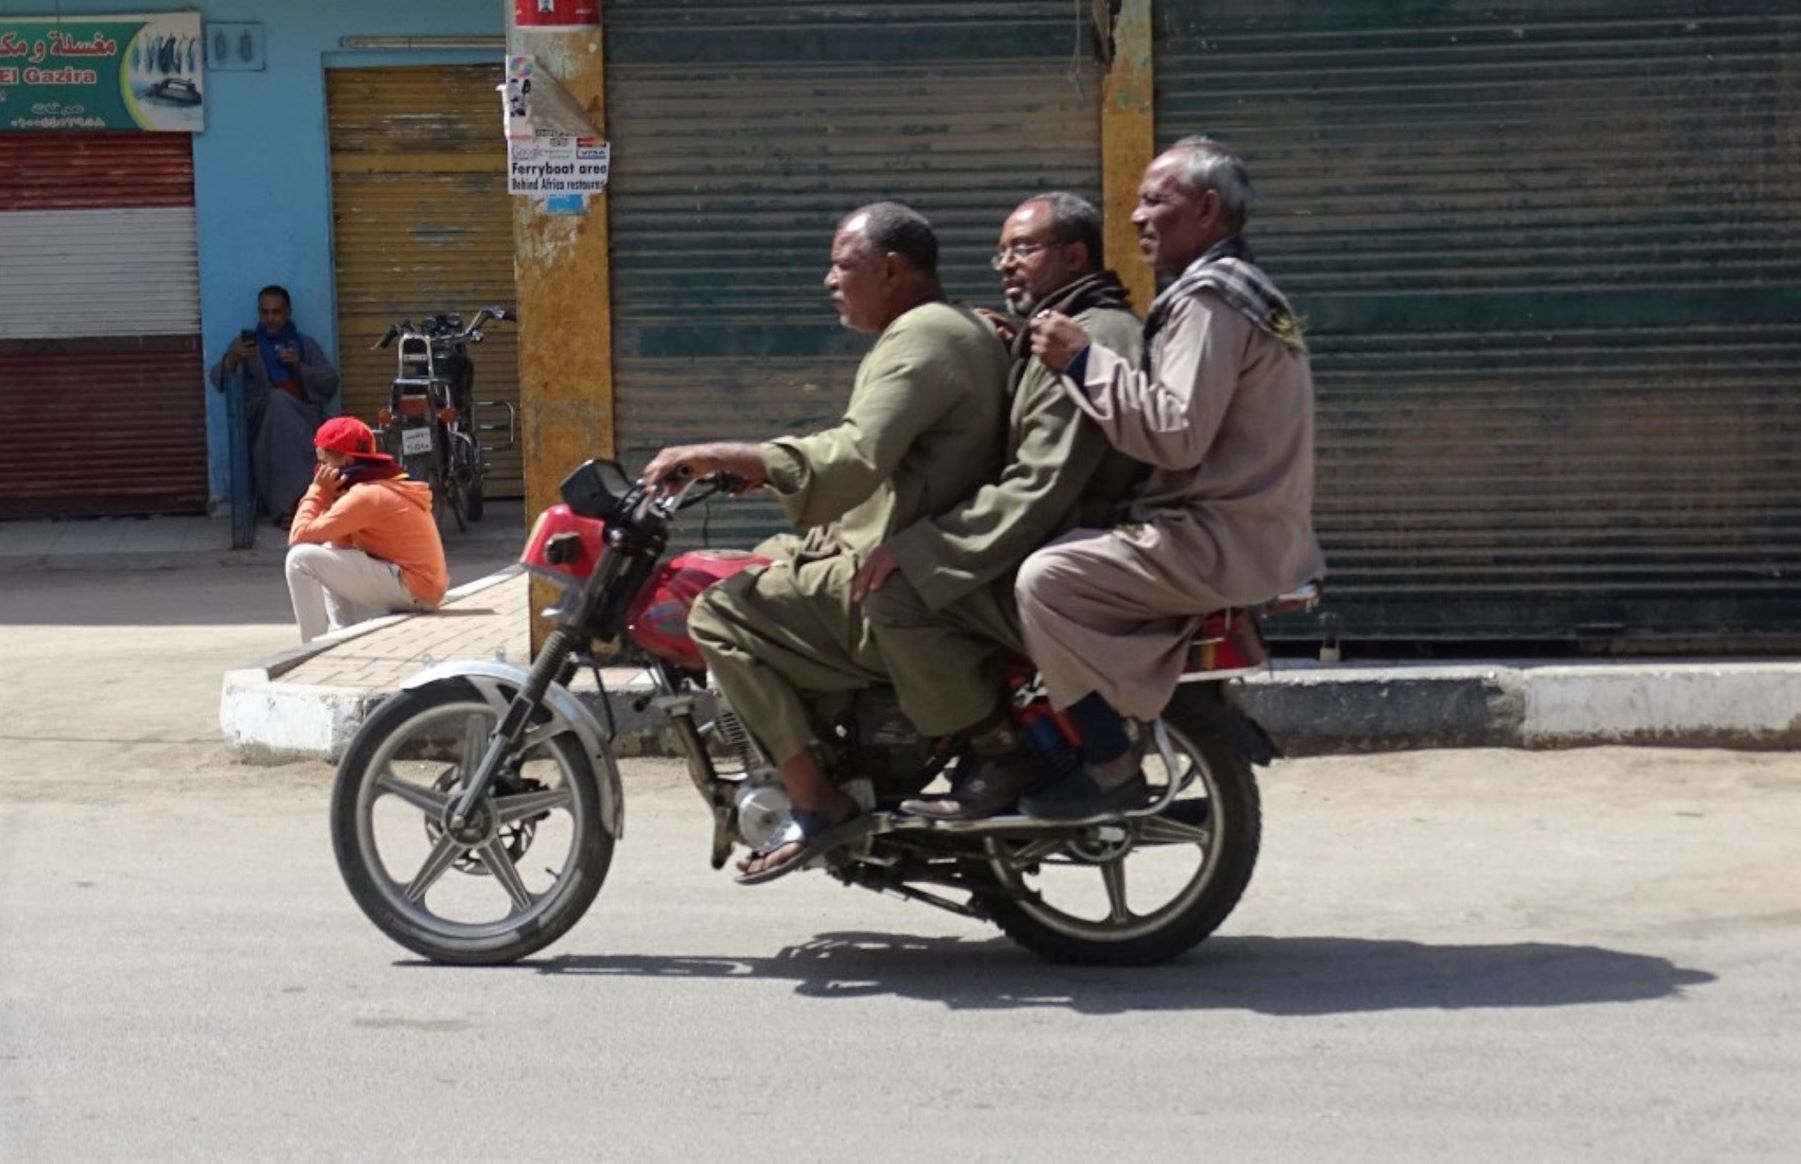
M 612 861 L 591 760 L 548 721 L 452 827 L 508 694 L 468 679 L 400 692 L 339 764 L 339 872 L 369 921 L 434 962 L 492 966 L 548 946 L 587 912 Z

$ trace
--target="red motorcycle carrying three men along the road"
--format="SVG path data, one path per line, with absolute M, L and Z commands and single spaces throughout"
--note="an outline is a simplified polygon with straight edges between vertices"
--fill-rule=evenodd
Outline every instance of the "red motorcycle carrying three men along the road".
M 331 840 L 344 883 L 384 933 L 434 962 L 493 966 L 580 921 L 625 836 L 625 796 L 612 732 L 571 681 L 580 668 L 598 681 L 594 643 L 620 634 L 652 659 L 654 692 L 639 710 L 661 712 L 711 813 L 713 868 L 733 845 L 755 849 L 782 827 L 789 805 L 774 766 L 708 685 L 688 636 L 695 598 L 765 559 L 695 550 L 665 562 L 677 514 L 737 485 L 648 487 L 611 461 L 582 465 L 524 551 L 526 568 L 562 589 L 531 667 L 441 663 L 375 708 L 337 769 Z M 1263 609 L 1317 598 L 1309 586 Z M 1275 750 L 1226 683 L 1266 659 L 1255 611 L 1212 614 L 1151 726 L 1149 800 L 1081 822 L 897 811 L 956 757 L 911 728 L 891 688 L 857 692 L 816 715 L 819 750 L 875 823 L 816 865 L 846 885 L 994 923 L 1050 960 L 1172 959 L 1226 919 L 1257 861 L 1253 768 Z M 1045 768 L 1077 764 L 1073 728 L 1032 668 L 1021 661 L 1009 687 Z M 1127 885 L 1156 903 L 1129 897 Z

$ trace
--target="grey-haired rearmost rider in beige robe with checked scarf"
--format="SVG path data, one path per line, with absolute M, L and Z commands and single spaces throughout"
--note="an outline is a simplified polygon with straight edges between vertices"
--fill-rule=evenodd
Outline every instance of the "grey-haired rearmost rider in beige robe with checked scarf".
M 1023 807 L 1072 820 L 1144 796 L 1138 741 L 1176 690 L 1201 616 L 1326 571 L 1313 537 L 1313 375 L 1300 326 L 1244 245 L 1250 175 L 1187 137 L 1138 187 L 1140 249 L 1167 276 L 1144 323 L 1147 364 L 1090 344 L 1066 315 L 1032 350 L 1117 449 L 1151 465 L 1124 523 L 1073 530 L 1019 568 L 1027 650 L 1088 760 Z

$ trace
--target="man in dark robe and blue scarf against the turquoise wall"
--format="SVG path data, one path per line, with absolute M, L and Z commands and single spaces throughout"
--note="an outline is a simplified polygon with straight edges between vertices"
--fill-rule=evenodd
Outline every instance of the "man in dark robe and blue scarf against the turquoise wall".
M 225 391 L 231 377 L 243 377 L 256 501 L 286 530 L 313 476 L 312 436 L 337 396 L 339 375 L 319 342 L 294 328 L 285 288 L 258 292 L 256 314 L 256 330 L 240 332 L 207 378 Z

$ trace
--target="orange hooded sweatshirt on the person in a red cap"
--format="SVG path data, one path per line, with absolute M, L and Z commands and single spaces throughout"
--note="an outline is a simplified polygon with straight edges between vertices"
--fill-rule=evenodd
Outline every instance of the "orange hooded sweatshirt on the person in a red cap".
M 288 544 L 331 544 L 362 550 L 400 566 L 400 584 L 425 605 L 438 605 L 450 587 L 445 544 L 432 519 L 432 487 L 391 477 L 353 485 L 333 499 L 317 481 L 301 497 L 288 526 Z

